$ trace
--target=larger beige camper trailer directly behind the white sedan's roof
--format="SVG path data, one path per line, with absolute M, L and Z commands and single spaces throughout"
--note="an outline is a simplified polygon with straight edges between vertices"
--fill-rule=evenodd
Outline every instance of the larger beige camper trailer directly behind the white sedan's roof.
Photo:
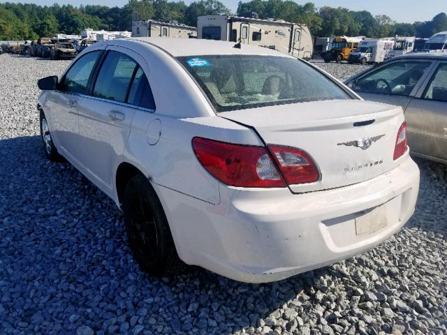
M 312 35 L 305 24 L 283 20 L 204 15 L 197 18 L 197 36 L 208 40 L 260 45 L 302 59 L 311 59 L 314 49 Z

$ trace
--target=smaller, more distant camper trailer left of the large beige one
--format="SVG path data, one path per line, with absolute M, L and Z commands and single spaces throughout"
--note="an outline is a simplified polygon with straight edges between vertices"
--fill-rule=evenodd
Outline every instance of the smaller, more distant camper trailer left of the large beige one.
M 195 38 L 196 36 L 196 27 L 189 27 L 178 22 L 132 21 L 132 37 Z

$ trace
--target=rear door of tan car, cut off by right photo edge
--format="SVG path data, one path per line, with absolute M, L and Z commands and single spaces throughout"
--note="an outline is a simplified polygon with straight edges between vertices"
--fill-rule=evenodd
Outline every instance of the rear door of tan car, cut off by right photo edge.
M 447 161 L 447 62 L 425 80 L 405 117 L 411 150 Z

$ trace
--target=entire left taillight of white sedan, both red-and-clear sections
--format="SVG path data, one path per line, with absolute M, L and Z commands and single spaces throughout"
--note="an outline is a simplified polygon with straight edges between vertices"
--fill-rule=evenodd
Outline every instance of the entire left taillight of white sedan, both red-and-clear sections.
M 299 149 L 269 145 L 269 154 L 265 147 L 230 144 L 201 137 L 194 137 L 192 144 L 203 167 L 230 186 L 285 187 L 286 183 L 312 183 L 319 178 L 312 158 Z

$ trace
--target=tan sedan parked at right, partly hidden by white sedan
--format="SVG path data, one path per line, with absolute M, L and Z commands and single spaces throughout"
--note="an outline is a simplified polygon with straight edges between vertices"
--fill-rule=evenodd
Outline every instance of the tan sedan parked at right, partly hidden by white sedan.
M 402 106 L 412 154 L 447 163 L 447 54 L 394 57 L 346 84 L 365 100 Z

